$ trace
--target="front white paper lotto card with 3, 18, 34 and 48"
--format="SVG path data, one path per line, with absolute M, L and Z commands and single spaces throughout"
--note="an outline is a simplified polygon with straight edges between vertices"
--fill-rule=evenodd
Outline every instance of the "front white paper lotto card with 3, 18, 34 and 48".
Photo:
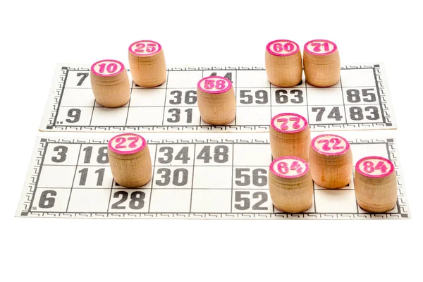
M 82 75 L 81 75 L 82 76 Z M 269 195 L 269 141 L 234 138 L 147 140 L 152 180 L 126 189 L 114 180 L 108 140 L 38 137 L 16 216 L 119 219 L 407 219 L 410 217 L 393 138 L 348 140 L 354 164 L 382 157 L 392 164 L 397 200 L 390 212 L 359 207 L 353 181 L 345 188 L 314 184 L 305 212 L 278 211 Z M 370 171 L 363 164 L 362 171 Z

